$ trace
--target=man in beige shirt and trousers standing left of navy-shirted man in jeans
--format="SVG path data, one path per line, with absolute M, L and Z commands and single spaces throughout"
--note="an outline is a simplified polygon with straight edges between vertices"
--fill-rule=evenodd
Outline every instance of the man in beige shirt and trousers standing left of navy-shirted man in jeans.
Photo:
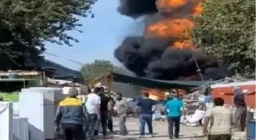
M 121 93 L 117 93 L 116 107 L 119 117 L 120 135 L 127 135 L 128 131 L 126 129 L 126 117 L 129 106 L 128 102 L 126 101 L 126 99 L 123 98 Z

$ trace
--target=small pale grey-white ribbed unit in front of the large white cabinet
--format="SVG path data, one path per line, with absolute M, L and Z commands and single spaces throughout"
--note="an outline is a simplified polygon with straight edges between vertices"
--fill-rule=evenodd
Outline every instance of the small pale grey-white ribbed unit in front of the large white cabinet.
M 27 118 L 13 118 L 13 140 L 29 140 L 28 120 Z

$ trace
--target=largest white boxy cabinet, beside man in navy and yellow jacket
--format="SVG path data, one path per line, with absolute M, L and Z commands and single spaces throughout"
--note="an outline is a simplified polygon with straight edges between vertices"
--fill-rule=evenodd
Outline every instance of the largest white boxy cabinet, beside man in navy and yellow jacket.
M 20 117 L 27 117 L 32 140 L 55 138 L 54 118 L 56 107 L 66 96 L 55 88 L 22 89 L 20 93 Z

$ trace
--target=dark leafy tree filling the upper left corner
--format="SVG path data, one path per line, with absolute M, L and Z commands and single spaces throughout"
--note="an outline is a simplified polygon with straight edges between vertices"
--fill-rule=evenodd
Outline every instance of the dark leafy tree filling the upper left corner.
M 72 46 L 66 31 L 76 30 L 78 17 L 88 17 L 96 0 L 2 0 L 0 2 L 1 64 L 21 65 L 45 51 L 44 42 Z M 78 30 L 79 31 L 79 30 Z M 81 32 L 81 31 L 79 31 Z

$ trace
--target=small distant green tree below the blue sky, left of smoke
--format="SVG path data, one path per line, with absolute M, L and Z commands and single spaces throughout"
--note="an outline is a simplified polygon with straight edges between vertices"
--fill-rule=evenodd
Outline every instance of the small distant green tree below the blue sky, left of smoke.
M 110 71 L 120 71 L 121 67 L 114 66 L 110 61 L 104 60 L 95 60 L 94 63 L 85 64 L 81 68 L 82 76 L 85 79 L 95 78 L 96 76 L 101 76 L 102 74 L 106 74 Z

